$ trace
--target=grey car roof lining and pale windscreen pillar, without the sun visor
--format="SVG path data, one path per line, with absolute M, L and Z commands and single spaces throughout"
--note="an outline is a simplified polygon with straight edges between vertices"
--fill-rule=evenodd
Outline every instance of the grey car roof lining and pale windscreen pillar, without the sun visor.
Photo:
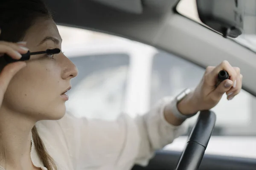
M 143 42 L 204 68 L 228 60 L 231 65 L 241 68 L 243 89 L 256 96 L 256 79 L 252 78 L 256 75 L 256 54 L 175 13 L 172 9 L 177 0 L 143 0 L 141 14 L 91 0 L 45 1 L 59 25 L 100 31 Z

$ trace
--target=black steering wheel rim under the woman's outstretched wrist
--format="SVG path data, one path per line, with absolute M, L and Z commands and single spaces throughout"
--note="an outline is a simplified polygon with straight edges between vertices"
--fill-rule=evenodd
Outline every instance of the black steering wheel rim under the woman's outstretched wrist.
M 201 111 L 193 127 L 186 148 L 176 170 L 198 170 L 215 126 L 216 115 L 212 111 Z

